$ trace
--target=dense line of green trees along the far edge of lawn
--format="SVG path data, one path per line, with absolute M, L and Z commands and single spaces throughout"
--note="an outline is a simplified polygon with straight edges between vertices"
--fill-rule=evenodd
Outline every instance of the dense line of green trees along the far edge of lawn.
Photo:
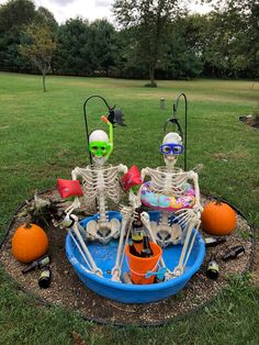
M 259 77 L 258 1 L 216 1 L 205 15 L 183 7 L 178 0 L 116 0 L 119 26 L 80 18 L 58 25 L 46 8 L 10 0 L 0 4 L 0 70 L 38 71 L 19 53 L 22 33 L 34 24 L 55 35 L 55 74 L 146 78 L 154 86 L 155 71 L 160 79 Z

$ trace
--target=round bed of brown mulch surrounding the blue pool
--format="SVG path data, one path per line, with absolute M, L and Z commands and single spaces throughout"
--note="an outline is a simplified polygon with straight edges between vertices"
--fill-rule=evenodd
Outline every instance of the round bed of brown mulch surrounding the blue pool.
M 41 194 L 42 198 L 58 199 L 57 191 Z M 205 205 L 211 199 L 202 197 Z M 255 252 L 254 229 L 246 219 L 237 214 L 237 227 L 227 241 L 216 247 L 207 248 L 204 263 L 188 285 L 176 296 L 155 303 L 125 304 L 109 300 L 90 291 L 74 272 L 66 257 L 66 231 L 49 227 L 49 255 L 52 257 L 52 283 L 48 289 L 40 289 L 38 270 L 22 275 L 23 264 L 16 261 L 11 254 L 11 238 L 14 230 L 23 223 L 14 219 L 10 233 L 0 252 L 0 260 L 7 272 L 27 292 L 33 292 L 44 302 L 65 305 L 77 310 L 88 320 L 113 324 L 157 325 L 177 316 L 187 314 L 213 299 L 224 287 L 228 278 L 235 274 L 244 274 L 250 269 Z M 202 235 L 207 235 L 201 231 Z M 223 261 L 222 256 L 233 246 L 243 245 L 245 254 L 235 260 Z M 206 266 L 211 256 L 216 257 L 219 265 L 219 277 L 211 280 L 206 277 Z

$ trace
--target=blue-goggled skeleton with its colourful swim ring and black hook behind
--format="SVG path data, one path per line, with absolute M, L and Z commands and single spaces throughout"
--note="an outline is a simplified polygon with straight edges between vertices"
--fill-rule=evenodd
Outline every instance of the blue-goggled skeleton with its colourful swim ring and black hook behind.
M 181 94 L 178 100 L 180 97 Z M 184 100 L 187 101 L 185 96 Z M 164 155 L 166 166 L 142 169 L 142 179 L 144 180 L 146 176 L 151 179 L 140 187 L 140 200 L 144 204 L 161 211 L 160 220 L 149 224 L 156 242 L 164 247 L 169 244 L 180 243 L 183 245 L 179 263 L 172 272 L 181 276 L 201 224 L 203 208 L 200 202 L 198 174 L 176 167 L 179 155 L 187 151 L 182 144 L 182 129 L 177 118 L 177 107 L 173 108 L 173 116 L 166 122 L 164 132 L 170 122 L 177 125 L 179 133 L 169 132 L 162 140 L 160 153 Z M 187 134 L 184 134 L 184 144 L 187 145 Z M 187 159 L 184 157 L 185 167 Z

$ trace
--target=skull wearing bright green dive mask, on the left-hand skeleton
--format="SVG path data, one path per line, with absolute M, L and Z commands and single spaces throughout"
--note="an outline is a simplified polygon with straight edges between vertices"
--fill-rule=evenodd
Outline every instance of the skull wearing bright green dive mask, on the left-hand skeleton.
M 89 151 L 95 165 L 105 164 L 111 151 L 108 134 L 102 130 L 93 131 L 89 136 Z

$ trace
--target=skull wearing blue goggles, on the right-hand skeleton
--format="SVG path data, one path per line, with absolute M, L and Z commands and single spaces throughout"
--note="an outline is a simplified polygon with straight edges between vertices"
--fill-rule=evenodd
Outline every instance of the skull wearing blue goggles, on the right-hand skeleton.
M 164 154 L 166 166 L 173 167 L 177 163 L 178 155 L 183 152 L 181 136 L 174 132 L 168 133 L 162 140 L 160 151 Z

